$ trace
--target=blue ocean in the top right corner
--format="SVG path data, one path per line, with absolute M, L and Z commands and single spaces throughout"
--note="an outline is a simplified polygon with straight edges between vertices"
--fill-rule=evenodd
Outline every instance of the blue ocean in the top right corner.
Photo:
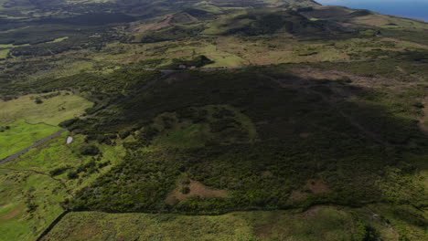
M 316 0 L 321 5 L 344 5 L 385 15 L 404 16 L 428 22 L 428 0 Z

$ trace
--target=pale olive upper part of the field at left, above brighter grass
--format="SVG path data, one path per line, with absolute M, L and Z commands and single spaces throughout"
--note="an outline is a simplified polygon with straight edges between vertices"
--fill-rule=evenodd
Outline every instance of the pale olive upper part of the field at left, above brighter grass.
M 41 103 L 37 103 L 37 100 Z M 0 100 L 0 123 L 7 124 L 25 119 L 32 124 L 58 125 L 61 121 L 79 117 L 91 106 L 90 101 L 67 91 L 27 95 L 9 101 Z

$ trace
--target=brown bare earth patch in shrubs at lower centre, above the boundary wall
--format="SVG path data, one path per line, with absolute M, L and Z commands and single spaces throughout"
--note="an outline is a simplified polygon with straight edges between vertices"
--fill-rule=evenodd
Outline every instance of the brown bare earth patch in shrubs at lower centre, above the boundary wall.
M 183 194 L 183 188 L 188 187 L 190 191 L 187 194 Z M 177 188 L 166 197 L 166 204 L 174 204 L 177 201 L 185 200 L 190 196 L 199 196 L 201 198 L 209 197 L 226 197 L 228 194 L 225 190 L 212 189 L 208 186 L 196 182 L 190 181 L 188 184 L 183 184 L 181 180 L 177 181 Z

